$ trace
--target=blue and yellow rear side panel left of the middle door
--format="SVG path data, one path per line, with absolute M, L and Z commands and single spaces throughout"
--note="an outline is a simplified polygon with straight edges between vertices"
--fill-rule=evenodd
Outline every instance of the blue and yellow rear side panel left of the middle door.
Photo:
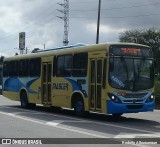
M 25 89 L 28 93 L 28 101 L 30 103 L 40 103 L 39 98 L 40 90 L 38 89 L 40 85 L 40 80 L 36 77 L 34 78 L 17 78 L 10 77 L 4 78 L 3 81 L 3 95 L 11 100 L 20 100 L 20 91 Z

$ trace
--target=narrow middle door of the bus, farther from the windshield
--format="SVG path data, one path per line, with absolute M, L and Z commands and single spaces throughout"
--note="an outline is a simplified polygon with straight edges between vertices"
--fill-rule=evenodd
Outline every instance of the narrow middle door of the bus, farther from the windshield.
M 42 103 L 51 105 L 52 62 L 42 62 Z

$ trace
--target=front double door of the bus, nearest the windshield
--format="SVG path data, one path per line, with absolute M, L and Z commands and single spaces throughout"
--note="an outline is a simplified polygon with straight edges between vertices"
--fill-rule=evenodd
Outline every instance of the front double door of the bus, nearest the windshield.
M 101 110 L 103 60 L 90 60 L 90 109 L 94 111 Z

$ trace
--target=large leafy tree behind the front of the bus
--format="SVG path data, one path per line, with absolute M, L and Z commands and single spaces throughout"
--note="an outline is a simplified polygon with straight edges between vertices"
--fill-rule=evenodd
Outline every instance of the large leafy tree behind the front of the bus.
M 120 42 L 135 42 L 151 47 L 155 59 L 160 60 L 160 30 L 150 28 L 148 30 L 130 30 L 122 32 Z

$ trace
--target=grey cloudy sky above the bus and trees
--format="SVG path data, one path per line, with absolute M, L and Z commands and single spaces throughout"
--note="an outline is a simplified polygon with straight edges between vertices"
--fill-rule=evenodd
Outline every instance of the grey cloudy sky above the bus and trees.
M 69 0 L 69 44 L 95 44 L 99 0 Z M 64 21 L 57 9 L 64 0 L 1 0 L 0 56 L 19 53 L 19 32 L 26 47 L 62 46 Z M 160 28 L 159 0 L 101 0 L 100 43 L 117 42 L 125 30 Z

